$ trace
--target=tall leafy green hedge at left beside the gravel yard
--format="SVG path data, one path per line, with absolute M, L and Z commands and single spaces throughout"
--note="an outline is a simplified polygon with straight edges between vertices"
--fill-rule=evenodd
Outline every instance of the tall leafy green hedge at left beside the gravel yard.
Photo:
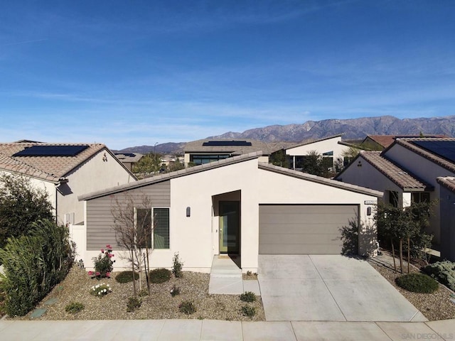
M 6 313 L 26 315 L 65 278 L 73 264 L 68 228 L 50 220 L 33 223 L 27 236 L 8 239 L 0 249 L 0 260 Z

